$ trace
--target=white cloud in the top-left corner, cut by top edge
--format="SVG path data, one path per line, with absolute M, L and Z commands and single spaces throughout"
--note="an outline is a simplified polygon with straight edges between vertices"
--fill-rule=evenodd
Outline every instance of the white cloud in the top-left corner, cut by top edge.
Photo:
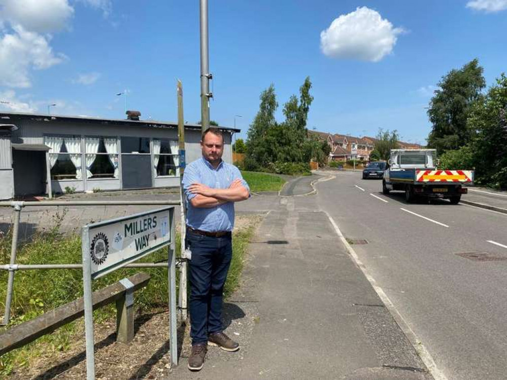
M 0 0 L 0 19 L 39 33 L 65 28 L 74 15 L 67 0 Z

